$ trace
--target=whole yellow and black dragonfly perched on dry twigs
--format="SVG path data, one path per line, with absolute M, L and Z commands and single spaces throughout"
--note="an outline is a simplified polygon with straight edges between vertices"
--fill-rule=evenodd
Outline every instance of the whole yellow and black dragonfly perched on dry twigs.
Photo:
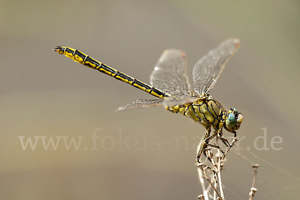
M 203 164 L 200 162 L 200 157 L 207 146 L 220 149 L 218 145 L 209 141 L 216 137 L 227 146 L 230 145 L 227 139 L 222 137 L 223 128 L 232 132 L 235 137 L 236 130 L 242 122 L 242 114 L 236 108 L 224 108 L 209 94 L 226 63 L 238 49 L 239 43 L 237 38 L 226 39 L 201 57 L 193 67 L 193 86 L 188 81 L 185 53 L 180 49 L 163 51 L 150 74 L 150 85 L 111 68 L 77 49 L 57 46 L 53 50 L 157 97 L 137 99 L 119 107 L 118 110 L 164 105 L 167 110 L 180 113 L 202 124 L 205 132 L 199 143 L 196 161 L 198 164 Z

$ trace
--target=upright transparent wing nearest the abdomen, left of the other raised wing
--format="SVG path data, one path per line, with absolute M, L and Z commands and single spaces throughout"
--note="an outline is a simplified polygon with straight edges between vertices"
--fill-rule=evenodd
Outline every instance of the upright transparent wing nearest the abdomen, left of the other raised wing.
M 177 97 L 190 94 L 185 53 L 180 49 L 164 50 L 150 75 L 150 83 Z

